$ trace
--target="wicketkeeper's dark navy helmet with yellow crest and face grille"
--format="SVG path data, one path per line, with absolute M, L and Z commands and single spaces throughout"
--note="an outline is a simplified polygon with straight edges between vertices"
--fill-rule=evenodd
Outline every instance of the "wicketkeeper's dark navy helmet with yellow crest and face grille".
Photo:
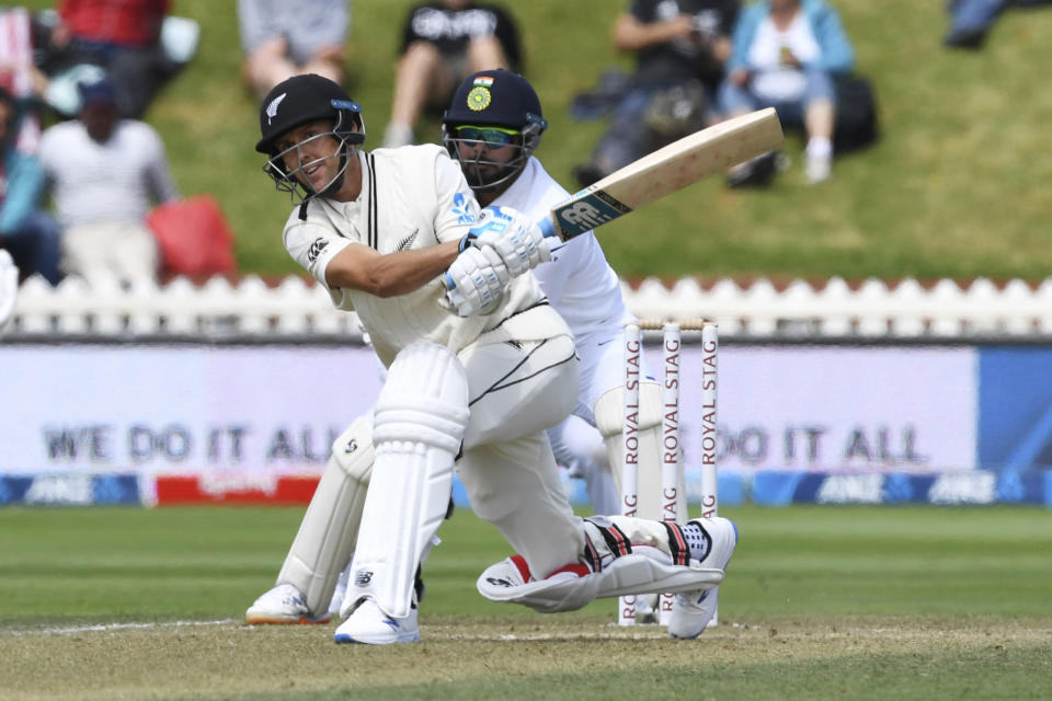
M 467 138 L 459 134 L 462 127 L 495 127 L 507 135 L 508 143 L 489 142 L 472 129 L 467 135 L 472 138 Z M 468 76 L 457 88 L 442 116 L 442 142 L 460 162 L 471 188 L 489 191 L 506 187 L 515 180 L 540 145 L 546 128 L 540 99 L 525 78 L 503 69 L 482 70 Z M 508 145 L 516 153 L 507 162 L 485 158 L 489 148 Z

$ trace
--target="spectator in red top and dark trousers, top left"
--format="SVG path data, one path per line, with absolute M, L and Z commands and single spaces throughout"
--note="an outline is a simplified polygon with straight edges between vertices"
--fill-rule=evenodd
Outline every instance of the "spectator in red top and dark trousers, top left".
M 179 24 L 169 24 L 170 5 L 171 0 L 58 0 L 56 13 L 46 18 L 50 24 L 41 47 L 47 54 L 42 58 L 44 72 L 57 81 L 56 90 L 68 93 L 77 80 L 106 74 L 116 90 L 119 115 L 141 117 L 190 59 L 185 43 L 192 43 L 191 56 L 196 48 L 196 23 L 179 18 Z M 79 107 L 76 102 L 49 102 L 64 116 Z

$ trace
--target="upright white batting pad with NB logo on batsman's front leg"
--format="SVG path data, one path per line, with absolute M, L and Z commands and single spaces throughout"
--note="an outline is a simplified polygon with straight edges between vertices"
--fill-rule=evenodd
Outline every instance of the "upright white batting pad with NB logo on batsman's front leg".
M 376 404 L 376 461 L 342 616 L 364 596 L 388 616 L 409 616 L 416 567 L 446 515 L 467 423 L 468 380 L 457 357 L 434 343 L 403 348 Z

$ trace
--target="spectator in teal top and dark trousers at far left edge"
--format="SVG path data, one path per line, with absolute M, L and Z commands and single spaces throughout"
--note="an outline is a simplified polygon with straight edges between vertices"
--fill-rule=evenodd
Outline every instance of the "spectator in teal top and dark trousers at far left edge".
M 0 249 L 11 254 L 23 278 L 37 273 L 56 285 L 58 225 L 42 209 L 41 162 L 14 146 L 18 125 L 18 103 L 0 88 Z

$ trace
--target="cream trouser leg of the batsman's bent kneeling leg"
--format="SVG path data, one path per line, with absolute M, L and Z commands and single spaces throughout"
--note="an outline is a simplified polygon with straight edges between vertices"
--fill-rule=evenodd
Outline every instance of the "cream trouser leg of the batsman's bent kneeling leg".
M 471 413 L 456 468 L 472 510 L 493 524 L 539 576 L 576 562 L 584 526 L 573 514 L 545 434 L 578 401 L 572 336 L 472 344 L 459 358 Z

